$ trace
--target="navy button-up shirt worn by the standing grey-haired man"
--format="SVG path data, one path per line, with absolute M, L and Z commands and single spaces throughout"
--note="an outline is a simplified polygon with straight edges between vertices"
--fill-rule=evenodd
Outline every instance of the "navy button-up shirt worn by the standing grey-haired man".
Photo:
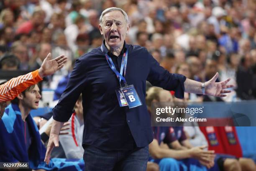
M 103 150 L 147 146 L 153 140 L 153 132 L 145 102 L 146 80 L 154 86 L 174 90 L 176 97 L 183 98 L 186 77 L 169 73 L 144 47 L 124 44 L 117 57 L 108 51 L 104 42 L 103 49 L 118 70 L 123 52 L 128 50 L 125 79 L 128 85 L 134 85 L 142 105 L 131 109 L 119 106 L 115 93 L 120 88 L 118 78 L 109 67 L 100 47 L 97 47 L 77 59 L 67 88 L 53 109 L 53 118 L 56 121 L 68 121 L 82 93 L 83 146 L 92 145 Z

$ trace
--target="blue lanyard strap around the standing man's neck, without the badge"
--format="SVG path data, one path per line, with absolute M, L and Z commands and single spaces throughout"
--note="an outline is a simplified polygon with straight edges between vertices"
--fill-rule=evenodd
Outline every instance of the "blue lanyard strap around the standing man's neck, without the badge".
M 102 52 L 105 54 L 105 57 L 107 59 L 108 65 L 110 66 L 110 68 L 112 69 L 113 72 L 115 72 L 116 76 L 119 78 L 119 83 L 121 85 L 121 80 L 123 80 L 123 82 L 126 85 L 126 80 L 123 77 L 123 72 L 124 72 L 124 76 L 125 76 L 125 72 L 126 72 L 126 65 L 127 65 L 127 58 L 128 58 L 128 50 L 126 50 L 126 52 L 123 54 L 122 57 L 122 63 L 121 63 L 121 68 L 120 68 L 120 73 L 116 70 L 115 68 L 115 64 L 113 63 L 111 57 L 108 56 L 108 54 L 103 50 L 103 47 L 101 45 L 100 49 L 102 50 Z

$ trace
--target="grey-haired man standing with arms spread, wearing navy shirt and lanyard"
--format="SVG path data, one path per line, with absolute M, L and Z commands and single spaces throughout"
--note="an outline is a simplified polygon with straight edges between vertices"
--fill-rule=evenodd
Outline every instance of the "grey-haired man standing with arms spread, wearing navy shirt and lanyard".
M 148 144 L 153 140 L 150 117 L 145 103 L 146 80 L 154 86 L 185 92 L 225 96 L 229 81 L 215 83 L 218 73 L 208 82 L 171 74 L 148 53 L 146 48 L 128 45 L 127 14 L 111 7 L 100 16 L 104 36 L 101 47 L 77 59 L 67 89 L 54 107 L 54 121 L 47 146 L 46 163 L 54 146 L 59 146 L 59 131 L 68 121 L 79 94 L 84 110 L 84 162 L 86 171 L 145 171 Z M 135 91 L 136 89 L 136 91 Z

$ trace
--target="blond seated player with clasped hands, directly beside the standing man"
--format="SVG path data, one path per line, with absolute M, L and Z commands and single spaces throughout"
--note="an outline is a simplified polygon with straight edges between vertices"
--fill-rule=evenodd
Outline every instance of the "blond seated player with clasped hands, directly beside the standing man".
M 172 102 L 172 95 L 170 92 L 161 89 L 159 87 L 151 87 L 147 91 L 146 104 L 150 111 L 151 102 Z M 161 171 L 172 171 L 179 168 L 185 169 L 196 169 L 206 171 L 208 168 L 213 166 L 214 151 L 204 151 L 205 146 L 194 147 L 189 150 L 172 150 L 166 149 L 160 146 L 163 143 L 169 144 L 173 140 L 171 127 L 153 127 L 154 140 L 149 144 L 149 153 L 154 158 L 152 161 L 159 163 Z M 205 159 L 204 155 L 210 156 L 209 159 Z M 194 159 L 189 159 L 194 158 Z M 186 160 L 182 160 L 186 159 Z M 198 159 L 198 160 L 195 160 Z M 200 164 L 200 163 L 201 164 Z

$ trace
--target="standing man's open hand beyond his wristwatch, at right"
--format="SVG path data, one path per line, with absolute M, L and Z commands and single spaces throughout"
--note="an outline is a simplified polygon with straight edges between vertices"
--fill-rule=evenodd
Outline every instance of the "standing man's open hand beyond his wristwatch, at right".
M 212 77 L 212 79 L 205 82 L 206 95 L 215 96 L 215 97 L 225 97 L 227 96 L 226 93 L 231 92 L 230 90 L 225 90 L 225 89 L 234 87 L 234 85 L 227 85 L 227 83 L 230 81 L 230 78 L 222 82 L 215 82 L 218 77 L 219 77 L 219 73 L 217 72 L 215 76 Z

